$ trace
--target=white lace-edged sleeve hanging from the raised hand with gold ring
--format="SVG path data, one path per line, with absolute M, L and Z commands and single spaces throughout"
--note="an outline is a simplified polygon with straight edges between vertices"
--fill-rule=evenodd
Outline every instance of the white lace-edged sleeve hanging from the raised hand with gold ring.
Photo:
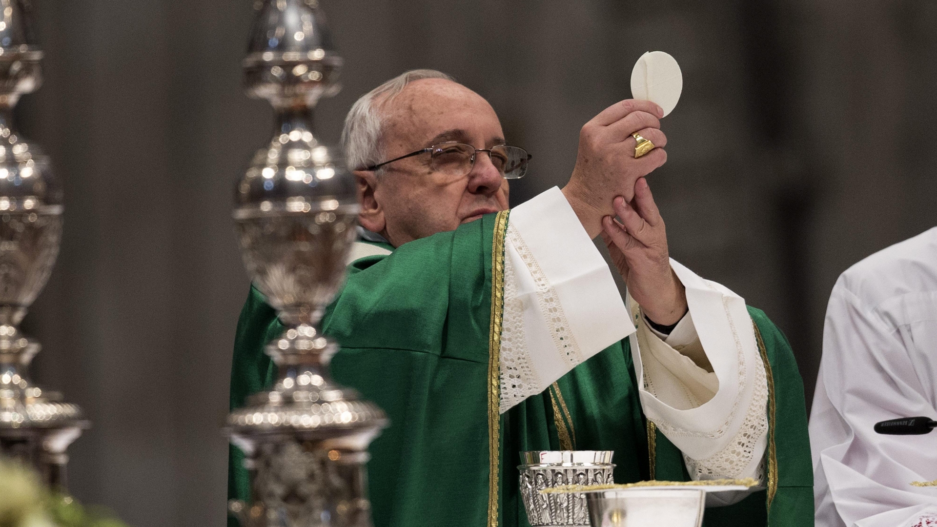
M 608 264 L 559 188 L 514 207 L 504 242 L 500 412 L 633 332 Z

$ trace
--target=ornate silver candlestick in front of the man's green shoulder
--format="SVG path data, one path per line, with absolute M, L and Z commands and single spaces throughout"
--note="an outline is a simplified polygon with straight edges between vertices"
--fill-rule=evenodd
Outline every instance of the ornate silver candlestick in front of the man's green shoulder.
M 228 417 L 252 485 L 252 503 L 230 508 L 245 527 L 369 526 L 364 463 L 387 419 L 330 379 L 338 346 L 318 328 L 345 278 L 358 214 L 351 173 L 312 128 L 342 60 L 317 0 L 255 6 L 246 90 L 271 102 L 276 124 L 237 184 L 234 219 L 247 272 L 286 330 L 266 347 L 279 369 L 273 390 Z

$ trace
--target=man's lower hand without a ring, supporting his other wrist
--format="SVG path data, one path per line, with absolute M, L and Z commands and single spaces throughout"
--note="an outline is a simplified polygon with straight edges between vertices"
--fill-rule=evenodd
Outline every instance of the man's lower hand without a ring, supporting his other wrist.
M 645 178 L 634 184 L 633 195 L 631 203 L 615 198 L 614 216 L 621 221 L 602 218 L 602 240 L 647 318 L 656 324 L 677 324 L 687 312 L 687 294 L 670 268 L 663 218 Z

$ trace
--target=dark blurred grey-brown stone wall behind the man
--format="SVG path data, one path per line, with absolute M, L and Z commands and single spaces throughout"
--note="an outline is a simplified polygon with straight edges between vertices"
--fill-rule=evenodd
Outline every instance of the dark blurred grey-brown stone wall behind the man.
M 438 68 L 534 155 L 521 203 L 565 183 L 579 128 L 630 97 L 641 53 L 684 92 L 649 178 L 672 254 L 765 309 L 811 399 L 827 295 L 850 264 L 937 225 L 937 4 L 911 0 L 322 0 L 346 58 L 321 105 Z M 251 0 L 35 0 L 46 81 L 22 130 L 66 188 L 64 245 L 26 319 L 37 382 L 94 423 L 71 488 L 138 527 L 225 522 L 231 344 L 247 293 L 234 181 L 270 136 L 240 62 Z

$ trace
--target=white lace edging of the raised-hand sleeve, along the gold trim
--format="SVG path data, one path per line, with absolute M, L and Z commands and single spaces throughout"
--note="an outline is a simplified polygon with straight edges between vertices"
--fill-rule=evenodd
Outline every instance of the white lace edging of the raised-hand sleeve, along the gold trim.
M 504 314 L 501 319 L 500 413 L 540 393 L 541 381 L 530 365 L 524 337 L 524 302 L 517 297 L 517 276 L 510 258 L 504 259 Z

